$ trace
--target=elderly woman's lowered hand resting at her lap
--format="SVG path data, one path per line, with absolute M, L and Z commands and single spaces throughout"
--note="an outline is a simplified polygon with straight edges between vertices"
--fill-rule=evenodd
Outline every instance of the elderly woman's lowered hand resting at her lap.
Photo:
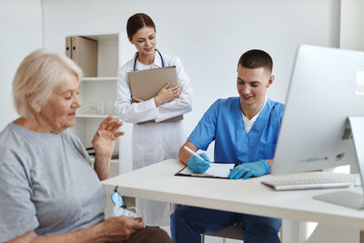
M 143 228 L 144 224 L 140 218 L 120 216 L 108 218 L 100 226 L 107 242 L 120 242 L 130 238 L 138 229 Z

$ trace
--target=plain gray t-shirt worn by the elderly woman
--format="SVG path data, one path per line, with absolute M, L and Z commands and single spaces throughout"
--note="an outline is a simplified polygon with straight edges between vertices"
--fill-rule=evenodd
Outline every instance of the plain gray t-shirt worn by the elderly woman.
M 105 206 L 86 149 L 71 132 L 11 123 L 0 133 L 0 242 L 31 230 L 49 235 L 94 226 Z

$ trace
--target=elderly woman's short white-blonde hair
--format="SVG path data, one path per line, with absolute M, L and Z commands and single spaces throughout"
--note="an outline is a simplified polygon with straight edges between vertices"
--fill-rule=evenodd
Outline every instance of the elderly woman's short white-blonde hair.
M 80 82 L 80 67 L 66 56 L 38 49 L 24 58 L 13 79 L 14 106 L 20 116 L 33 117 L 36 106 L 45 105 L 54 88 L 73 74 Z M 30 101 L 28 96 L 32 95 Z M 32 104 L 30 104 L 30 102 Z

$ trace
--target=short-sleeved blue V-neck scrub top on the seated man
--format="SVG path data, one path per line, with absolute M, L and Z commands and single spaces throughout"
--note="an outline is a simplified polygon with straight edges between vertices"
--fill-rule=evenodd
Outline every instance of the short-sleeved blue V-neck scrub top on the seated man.
M 214 160 L 217 162 L 246 163 L 271 159 L 284 108 L 283 104 L 268 99 L 247 134 L 240 97 L 218 99 L 208 108 L 188 140 L 202 150 L 207 150 L 215 140 Z

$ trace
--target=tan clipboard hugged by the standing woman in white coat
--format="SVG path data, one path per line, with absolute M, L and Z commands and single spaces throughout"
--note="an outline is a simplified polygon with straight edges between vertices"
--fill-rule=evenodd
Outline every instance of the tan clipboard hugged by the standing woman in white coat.
M 165 66 L 127 73 L 132 96 L 148 100 L 157 95 L 158 91 L 169 82 L 169 86 L 177 86 L 176 66 Z M 183 119 L 183 115 L 169 118 L 161 122 L 171 122 Z M 143 123 L 155 123 L 149 120 Z

